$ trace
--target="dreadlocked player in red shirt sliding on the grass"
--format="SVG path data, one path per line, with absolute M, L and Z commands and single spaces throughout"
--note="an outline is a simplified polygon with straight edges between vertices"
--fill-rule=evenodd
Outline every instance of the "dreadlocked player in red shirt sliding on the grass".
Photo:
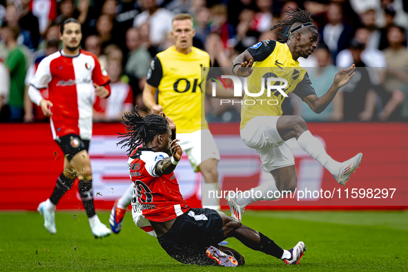
M 136 108 L 124 115 L 127 133 L 121 137 L 126 139 L 119 144 L 128 146 L 130 155 L 128 168 L 134 186 L 135 224 L 157 237 L 166 253 L 184 264 L 244 264 L 244 258 L 237 251 L 218 245 L 228 237 L 235 237 L 249 248 L 284 260 L 286 264 L 298 264 L 306 250 L 303 242 L 285 251 L 262 233 L 222 211 L 186 205 L 173 172 L 183 151 L 177 144 L 173 120 L 164 113 L 160 115 L 141 117 Z

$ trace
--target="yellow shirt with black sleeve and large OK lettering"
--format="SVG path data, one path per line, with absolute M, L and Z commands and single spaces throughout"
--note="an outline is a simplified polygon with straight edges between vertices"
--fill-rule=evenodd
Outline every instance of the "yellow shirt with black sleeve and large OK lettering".
M 174 46 L 150 63 L 147 83 L 159 90 L 159 105 L 176 124 L 177 133 L 208 128 L 204 115 L 210 56 L 198 48 L 182 54 Z

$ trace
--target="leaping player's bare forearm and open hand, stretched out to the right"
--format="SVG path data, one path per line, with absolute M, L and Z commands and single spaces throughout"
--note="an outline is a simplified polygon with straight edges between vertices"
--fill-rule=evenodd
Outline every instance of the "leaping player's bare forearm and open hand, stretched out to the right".
M 333 84 L 331 84 L 329 90 L 327 90 L 324 95 L 321 97 L 318 97 L 317 95 L 308 95 L 303 98 L 303 101 L 305 101 L 315 113 L 322 113 L 336 96 L 338 90 L 349 83 L 350 79 L 355 75 L 354 70 L 356 70 L 354 64 L 347 69 L 342 69 L 336 74 Z

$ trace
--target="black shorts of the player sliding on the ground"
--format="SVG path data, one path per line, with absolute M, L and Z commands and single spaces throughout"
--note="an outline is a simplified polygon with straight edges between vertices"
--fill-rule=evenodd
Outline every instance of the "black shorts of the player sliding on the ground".
M 177 217 L 171 229 L 157 237 L 171 258 L 183 264 L 217 265 L 206 249 L 224 240 L 222 218 L 209 208 L 191 208 Z

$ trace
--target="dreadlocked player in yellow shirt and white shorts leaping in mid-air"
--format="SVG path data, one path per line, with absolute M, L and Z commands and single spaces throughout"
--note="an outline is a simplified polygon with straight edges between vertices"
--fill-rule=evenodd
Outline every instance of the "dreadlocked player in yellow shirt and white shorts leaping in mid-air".
M 298 116 L 281 116 L 282 101 L 287 93 L 298 95 L 315 113 L 321 113 L 335 97 L 338 90 L 353 77 L 354 64 L 336 74 L 333 84 L 327 93 L 318 97 L 311 86 L 307 72 L 299 65 L 298 58 L 307 58 L 313 53 L 318 41 L 318 29 L 313 25 L 310 14 L 304 10 L 291 9 L 284 21 L 278 21 L 271 30 L 283 29 L 277 32 L 279 41 L 266 40 L 256 43 L 233 60 L 233 72 L 240 77 L 248 77 L 249 93 L 259 93 L 262 77 L 280 77 L 286 79 L 288 85 L 276 91 L 269 99 L 278 101 L 269 106 L 260 103 L 243 105 L 241 110 L 240 134 L 246 146 L 253 148 L 260 155 L 262 171 L 271 173 L 274 181 L 265 182 L 253 188 L 262 195 L 239 193 L 228 197 L 231 214 L 242 220 L 246 205 L 258 200 L 275 200 L 275 191 L 295 191 L 298 177 L 295 170 L 295 159 L 291 149 L 285 143 L 295 137 L 299 146 L 313 159 L 322 164 L 336 179 L 344 185 L 350 175 L 356 171 L 362 159 L 362 153 L 347 160 L 336 162 L 324 150 L 320 141 L 311 135 L 306 123 Z M 265 73 L 269 70 L 268 73 Z M 264 94 L 266 97 L 266 94 Z M 248 96 L 245 95 L 244 99 Z M 262 99 L 257 97 L 256 99 Z M 250 103 L 252 104 L 252 103 Z M 275 103 L 273 103 L 275 104 Z M 243 195 L 250 195 L 249 198 Z M 260 196 L 260 197 L 258 197 Z

